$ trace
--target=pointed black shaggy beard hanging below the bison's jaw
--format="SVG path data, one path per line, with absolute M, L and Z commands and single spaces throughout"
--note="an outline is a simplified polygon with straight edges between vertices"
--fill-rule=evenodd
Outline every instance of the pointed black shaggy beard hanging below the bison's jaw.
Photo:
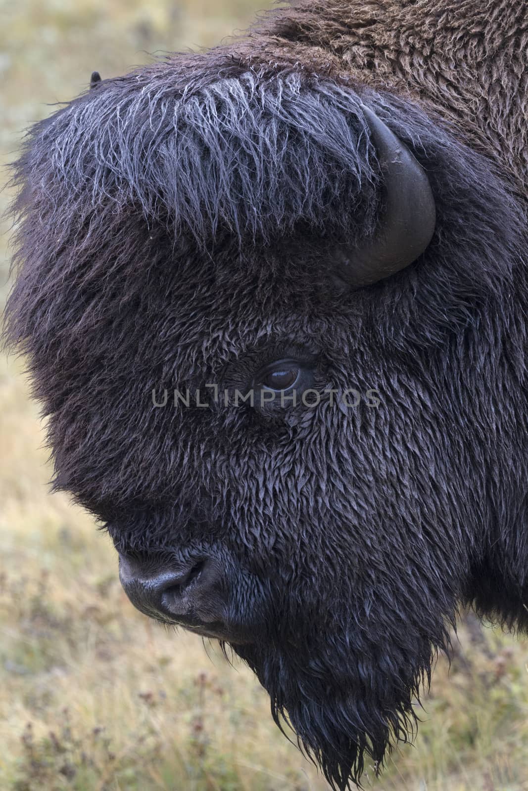
M 435 622 L 430 638 L 389 630 L 374 642 L 343 619 L 326 635 L 234 650 L 270 694 L 275 723 L 291 727 L 331 787 L 344 791 L 360 786 L 363 772 L 378 774 L 393 742 L 412 740 L 420 686 L 449 646 L 445 623 Z

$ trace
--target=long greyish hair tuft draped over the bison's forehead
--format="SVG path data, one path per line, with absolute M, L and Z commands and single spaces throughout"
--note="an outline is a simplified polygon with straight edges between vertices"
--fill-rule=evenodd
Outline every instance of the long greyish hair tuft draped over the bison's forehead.
M 199 244 L 226 230 L 269 239 L 300 220 L 371 229 L 376 163 L 355 93 L 300 73 L 182 78 L 105 81 L 44 126 L 48 175 L 72 208 L 88 193 L 139 206 Z

